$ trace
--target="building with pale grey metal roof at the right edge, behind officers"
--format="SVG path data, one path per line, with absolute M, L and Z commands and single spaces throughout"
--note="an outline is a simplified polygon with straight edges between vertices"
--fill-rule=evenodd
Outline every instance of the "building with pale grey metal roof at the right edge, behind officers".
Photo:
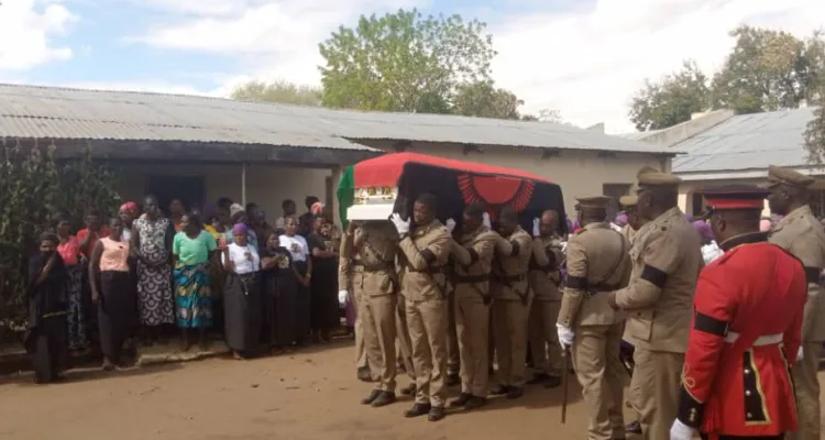
M 696 114 L 691 121 L 628 139 L 668 146 L 679 152 L 673 172 L 683 184 L 680 207 L 688 213 L 704 210 L 698 194 L 706 186 L 768 184 L 768 167 L 784 166 L 823 178 L 814 184 L 812 208 L 825 216 L 825 167 L 809 161 L 804 134 L 815 108 L 735 116 L 730 110 Z M 765 215 L 769 210 L 766 202 Z

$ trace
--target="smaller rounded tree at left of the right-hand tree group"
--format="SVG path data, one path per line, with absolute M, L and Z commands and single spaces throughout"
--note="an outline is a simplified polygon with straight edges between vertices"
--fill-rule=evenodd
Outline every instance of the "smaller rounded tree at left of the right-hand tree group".
M 681 70 L 659 82 L 646 79 L 645 87 L 632 97 L 630 121 L 639 131 L 660 130 L 690 121 L 691 114 L 710 107 L 707 82 L 707 76 L 693 61 L 683 62 Z

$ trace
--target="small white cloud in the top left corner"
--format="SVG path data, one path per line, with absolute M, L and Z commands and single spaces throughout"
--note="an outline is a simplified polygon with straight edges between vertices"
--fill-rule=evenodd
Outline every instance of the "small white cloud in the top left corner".
M 26 70 L 72 58 L 70 47 L 55 46 L 78 18 L 61 1 L 3 0 L 0 4 L 0 72 Z

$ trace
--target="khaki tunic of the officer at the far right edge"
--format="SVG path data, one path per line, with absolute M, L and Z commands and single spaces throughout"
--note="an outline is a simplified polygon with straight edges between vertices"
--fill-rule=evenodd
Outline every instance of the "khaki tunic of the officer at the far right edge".
M 825 231 L 806 205 L 791 211 L 771 230 L 769 241 L 800 258 L 807 275 L 807 301 L 802 340 L 825 341 L 825 293 L 820 273 L 825 268 Z

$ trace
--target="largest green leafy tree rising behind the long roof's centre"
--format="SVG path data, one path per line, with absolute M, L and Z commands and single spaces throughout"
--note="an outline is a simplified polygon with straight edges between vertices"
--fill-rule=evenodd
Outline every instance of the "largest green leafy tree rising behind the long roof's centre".
M 323 105 L 361 110 L 450 113 L 462 84 L 490 79 L 486 24 L 460 15 L 398 10 L 362 15 L 319 45 Z M 460 111 L 464 111 L 462 109 Z

